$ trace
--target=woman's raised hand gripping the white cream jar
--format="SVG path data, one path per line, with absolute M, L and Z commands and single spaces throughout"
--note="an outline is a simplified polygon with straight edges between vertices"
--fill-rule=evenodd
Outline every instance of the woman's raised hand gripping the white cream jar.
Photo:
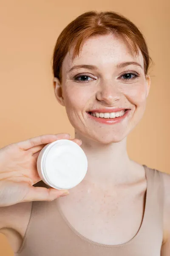
M 47 134 L 0 149 L 0 207 L 28 201 L 52 201 L 68 190 L 34 187 L 41 180 L 37 157 L 41 149 L 55 140 L 70 139 L 69 134 Z M 81 141 L 73 140 L 78 145 Z

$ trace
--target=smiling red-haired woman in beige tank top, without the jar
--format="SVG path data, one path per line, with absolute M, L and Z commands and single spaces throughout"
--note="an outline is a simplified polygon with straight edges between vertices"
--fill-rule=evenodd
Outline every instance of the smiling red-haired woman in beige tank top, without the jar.
M 55 94 L 75 142 L 82 141 L 88 172 L 68 196 L 52 189 L 47 198 L 47 189 L 31 186 L 40 180 L 35 159 L 42 145 L 23 142 L 34 160 L 3 180 L 11 195 L 4 193 L 0 209 L 1 232 L 16 255 L 170 254 L 170 175 L 130 160 L 126 151 L 126 137 L 144 114 L 149 64 L 139 29 L 114 12 L 84 13 L 59 35 Z

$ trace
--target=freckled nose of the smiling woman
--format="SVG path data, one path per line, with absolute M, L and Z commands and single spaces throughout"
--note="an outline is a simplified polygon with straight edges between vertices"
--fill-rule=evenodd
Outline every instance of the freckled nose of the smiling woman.
M 102 82 L 96 93 L 96 99 L 105 105 L 112 106 L 120 99 L 121 93 L 113 81 Z

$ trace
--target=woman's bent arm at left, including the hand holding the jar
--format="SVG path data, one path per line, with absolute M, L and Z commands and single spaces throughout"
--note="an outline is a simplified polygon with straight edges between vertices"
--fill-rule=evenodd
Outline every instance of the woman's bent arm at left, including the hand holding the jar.
M 40 150 L 59 139 L 70 139 L 70 135 L 46 134 L 0 148 L 0 233 L 14 252 L 22 244 L 32 201 L 51 201 L 64 192 L 37 184 L 41 180 L 36 164 Z M 80 145 L 79 140 L 73 141 Z

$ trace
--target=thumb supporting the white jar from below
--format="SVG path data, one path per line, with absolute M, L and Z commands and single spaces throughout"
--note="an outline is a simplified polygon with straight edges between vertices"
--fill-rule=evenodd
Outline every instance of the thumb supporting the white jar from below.
M 58 190 L 54 188 L 43 188 L 31 186 L 23 202 L 29 201 L 52 201 L 60 196 L 68 195 L 68 190 Z

